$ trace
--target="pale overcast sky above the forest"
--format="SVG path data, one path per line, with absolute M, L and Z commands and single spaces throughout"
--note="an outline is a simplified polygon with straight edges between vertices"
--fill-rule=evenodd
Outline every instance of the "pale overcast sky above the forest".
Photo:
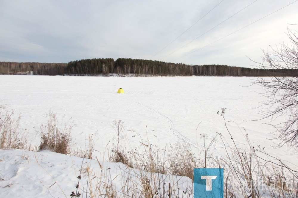
M 261 49 L 289 43 L 287 27 L 298 30 L 298 1 L 254 1 L 0 0 L 0 61 L 133 58 L 251 67 L 246 56 L 261 61 Z

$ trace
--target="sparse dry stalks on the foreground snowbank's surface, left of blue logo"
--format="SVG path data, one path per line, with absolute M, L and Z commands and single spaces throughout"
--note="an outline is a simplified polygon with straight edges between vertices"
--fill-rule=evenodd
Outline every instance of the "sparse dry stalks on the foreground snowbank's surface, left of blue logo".
M 87 160 L 86 163 L 89 162 Z M 112 173 L 109 167 L 97 162 L 100 166 L 99 172 L 89 168 L 88 184 L 80 187 L 83 197 L 183 198 L 193 195 L 191 182 L 186 189 L 180 189 L 179 180 L 171 178 L 171 175 L 125 168 L 117 170 L 115 176 L 115 172 Z

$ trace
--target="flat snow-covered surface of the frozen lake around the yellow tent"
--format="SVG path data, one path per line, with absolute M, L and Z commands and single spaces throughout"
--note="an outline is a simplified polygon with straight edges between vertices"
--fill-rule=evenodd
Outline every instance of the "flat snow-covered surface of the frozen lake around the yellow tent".
M 230 141 L 224 120 L 217 114 L 221 108 L 226 108 L 225 118 L 232 121 L 227 124 L 239 147 L 246 147 L 247 133 L 253 146 L 272 150 L 274 128 L 266 124 L 273 121 L 250 121 L 261 118 L 258 107 L 266 100 L 260 94 L 263 88 L 252 85 L 254 79 L 1 75 L 0 100 L 16 115 L 21 113 L 21 127 L 27 129 L 32 144 L 38 145 L 35 130 L 46 123 L 44 115 L 52 110 L 61 120 L 63 115 L 64 120 L 74 120 L 74 147 L 84 148 L 88 135 L 94 134 L 94 154 L 101 158 L 106 144 L 116 136 L 113 120 L 124 122 L 124 139 L 132 148 L 149 140 L 160 148 L 188 142 L 194 151 L 202 150 L 201 134 L 211 139 L 221 133 Z M 120 87 L 125 94 L 117 94 Z M 274 123 L 282 121 L 279 118 Z M 218 155 L 225 153 L 219 139 L 210 149 Z M 291 161 L 295 151 L 285 150 L 275 149 L 274 154 L 295 164 Z

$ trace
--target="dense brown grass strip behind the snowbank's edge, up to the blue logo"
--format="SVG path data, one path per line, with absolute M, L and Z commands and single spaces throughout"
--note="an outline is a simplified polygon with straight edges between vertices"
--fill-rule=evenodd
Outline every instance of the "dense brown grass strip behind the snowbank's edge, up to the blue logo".
M 121 123 L 123 125 L 123 123 Z M 116 134 L 122 134 L 121 131 Z M 117 142 L 108 149 L 108 159 L 110 162 L 121 162 L 128 167 L 136 168 L 145 172 L 186 176 L 193 180 L 193 169 L 203 168 L 203 160 L 197 158 L 187 143 L 177 142 L 169 145 L 169 149 L 162 149 L 150 144 L 141 142 L 139 147 L 127 150 Z

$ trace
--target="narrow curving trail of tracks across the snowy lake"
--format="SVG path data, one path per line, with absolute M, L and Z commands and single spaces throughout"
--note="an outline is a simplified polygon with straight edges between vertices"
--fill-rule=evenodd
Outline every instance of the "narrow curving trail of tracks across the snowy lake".
M 170 127 L 170 130 L 173 132 L 173 135 L 175 135 L 179 140 L 182 140 L 183 142 L 188 143 L 191 146 L 193 146 L 196 149 L 198 149 L 198 144 L 196 144 L 192 140 L 188 139 L 187 137 L 185 137 L 181 133 L 179 133 L 179 131 L 175 128 L 173 121 L 169 117 L 167 117 L 166 115 L 160 113 L 159 111 L 154 110 L 150 106 L 144 105 L 144 104 L 139 103 L 139 102 L 136 102 L 136 103 L 139 104 L 140 106 L 144 106 L 149 111 L 158 114 L 160 117 L 163 117 L 168 122 L 169 127 Z

